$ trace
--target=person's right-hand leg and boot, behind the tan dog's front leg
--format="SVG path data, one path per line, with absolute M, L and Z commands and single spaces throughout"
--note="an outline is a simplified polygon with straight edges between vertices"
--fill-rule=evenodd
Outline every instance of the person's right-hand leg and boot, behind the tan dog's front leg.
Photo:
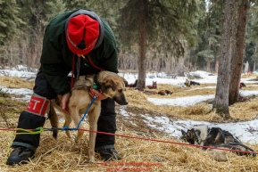
M 107 98 L 101 102 L 101 113 L 97 121 L 97 131 L 112 133 L 116 132 L 115 103 Z M 121 160 L 118 152 L 114 149 L 115 136 L 96 134 L 96 152 L 104 160 Z

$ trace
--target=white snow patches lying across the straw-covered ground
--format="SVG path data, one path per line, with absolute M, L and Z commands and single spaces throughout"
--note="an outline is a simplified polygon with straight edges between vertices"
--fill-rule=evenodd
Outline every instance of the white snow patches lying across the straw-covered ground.
M 4 76 L 12 76 L 12 77 L 20 77 L 24 79 L 34 79 L 36 77 L 37 70 L 29 69 L 26 70 L 26 68 L 22 66 L 18 66 L 16 68 L 12 68 L 10 70 L 1 70 L 0 69 L 0 75 Z M 195 72 L 191 72 L 191 75 L 197 75 L 200 78 L 194 79 L 194 81 L 199 82 L 201 84 L 205 83 L 216 83 L 217 82 L 217 76 L 211 75 L 211 73 L 197 70 Z M 126 78 L 129 81 L 129 84 L 132 84 L 137 79 L 136 74 L 120 74 L 122 77 Z M 158 78 L 159 77 L 159 78 Z M 152 85 L 153 81 L 157 81 L 159 84 L 171 84 L 174 86 L 181 86 L 185 81 L 187 77 L 177 77 L 177 78 L 160 78 L 165 77 L 164 73 L 148 73 L 146 74 L 146 85 Z M 255 81 L 247 81 L 248 78 L 241 79 L 242 82 L 245 83 L 257 83 Z M 207 86 L 208 88 L 214 89 L 214 86 Z M 32 94 L 32 90 L 25 89 L 25 88 L 6 88 L 4 86 L 1 86 L 0 83 L 0 89 L 6 93 L 10 94 L 19 94 L 24 95 L 21 100 L 28 101 L 30 95 Z M 198 89 L 198 88 L 195 88 Z M 241 90 L 240 94 L 243 96 L 248 95 L 257 95 L 258 91 L 249 91 L 249 90 Z M 150 102 L 153 102 L 157 105 L 171 105 L 171 106 L 188 106 L 193 105 L 197 102 L 203 102 L 209 99 L 214 98 L 213 94 L 210 95 L 196 95 L 196 96 L 188 96 L 188 97 L 181 97 L 181 98 L 175 98 L 175 99 L 158 99 L 158 98 L 148 98 L 147 100 Z M 129 116 L 129 113 L 127 111 L 124 111 L 123 108 L 121 108 L 121 114 L 125 117 Z M 156 127 L 160 130 L 163 130 L 167 132 L 170 135 L 173 135 L 175 137 L 179 137 L 181 135 L 181 129 L 186 130 L 186 128 L 195 127 L 197 125 L 208 125 L 209 127 L 221 127 L 222 129 L 228 130 L 233 135 L 236 135 L 242 142 L 246 143 L 258 143 L 258 132 L 254 132 L 258 130 L 258 119 L 254 119 L 252 121 L 246 121 L 246 122 L 236 122 L 236 123 L 210 123 L 206 121 L 194 121 L 194 120 L 174 120 L 171 121 L 166 116 L 163 117 L 149 117 L 147 114 L 142 114 L 143 117 L 146 118 L 146 121 L 148 122 L 150 127 Z M 155 123 L 162 124 L 157 127 Z M 162 126 L 162 127 L 161 127 Z M 251 132 L 253 131 L 253 132 Z

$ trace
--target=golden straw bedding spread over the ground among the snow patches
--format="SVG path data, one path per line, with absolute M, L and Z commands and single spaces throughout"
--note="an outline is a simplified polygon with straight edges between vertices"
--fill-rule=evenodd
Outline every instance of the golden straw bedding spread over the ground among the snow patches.
M 1 79 L 1 78 L 0 78 Z M 14 81 L 13 81 L 14 82 Z M 12 85 L 9 83 L 10 87 Z M 3 83 L 1 82 L 1 86 Z M 17 83 L 16 83 L 17 86 Z M 32 85 L 27 83 L 28 88 Z M 212 86 L 212 85 L 205 85 Z M 171 95 L 146 95 L 142 92 L 127 90 L 129 105 L 127 107 L 116 106 L 117 111 L 117 134 L 132 135 L 161 141 L 182 143 L 182 141 L 167 135 L 166 133 L 146 125 L 141 114 L 150 117 L 168 116 L 171 121 L 174 119 L 195 119 L 214 122 L 232 122 L 251 120 L 257 117 L 258 99 L 249 97 L 245 102 L 237 102 L 229 108 L 232 119 L 224 121 L 211 110 L 209 101 L 198 103 L 188 107 L 156 106 L 147 102 L 147 97 L 176 98 L 195 94 L 214 94 L 215 88 L 187 91 L 192 88 L 179 88 L 177 86 L 159 85 L 158 89 L 168 89 L 173 92 Z M 215 86 L 215 85 L 213 85 Z M 258 86 L 258 85 L 257 85 Z M 255 85 L 247 85 L 244 89 L 257 90 Z M 21 85 L 21 87 L 24 87 Z M 0 96 L 0 127 L 16 127 L 19 114 L 27 106 L 26 102 L 18 102 L 10 97 Z M 133 113 L 129 117 L 121 114 L 121 109 Z M 6 119 L 5 119 L 6 118 Z M 62 122 L 60 124 L 62 126 Z M 84 122 L 87 128 L 87 122 Z M 50 127 L 46 120 L 45 127 Z M 257 132 L 256 128 L 253 128 Z M 239 157 L 231 152 L 226 152 L 228 161 L 218 162 L 212 156 L 193 146 L 180 145 L 175 143 L 160 143 L 135 138 L 116 136 L 115 147 L 121 155 L 122 160 L 110 164 L 98 164 L 102 161 L 96 155 L 96 164 L 87 163 L 87 139 L 80 144 L 75 144 L 68 139 L 64 132 L 60 131 L 58 139 L 54 140 L 51 132 L 43 132 L 40 138 L 40 145 L 36 152 L 36 158 L 29 164 L 23 166 L 9 167 L 5 165 L 8 154 L 12 151 L 10 145 L 14 133 L 0 131 L 0 171 L 258 171 L 258 159 L 253 157 Z M 71 131 L 76 135 L 75 131 Z M 258 150 L 258 144 L 247 144 L 254 150 Z

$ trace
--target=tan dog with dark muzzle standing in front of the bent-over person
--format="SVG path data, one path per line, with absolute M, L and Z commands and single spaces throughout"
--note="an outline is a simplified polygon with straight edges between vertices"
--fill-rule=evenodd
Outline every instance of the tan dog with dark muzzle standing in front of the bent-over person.
M 59 110 L 65 118 L 64 127 L 69 127 L 71 124 L 71 120 L 75 123 L 75 125 L 79 124 L 80 115 L 83 114 L 90 102 L 92 101 L 92 97 L 88 94 L 89 89 L 93 84 L 96 84 L 97 90 L 103 93 L 106 97 L 113 99 L 115 102 L 126 105 L 128 104 L 126 97 L 123 93 L 125 90 L 124 78 L 121 78 L 119 75 L 110 72 L 110 71 L 100 71 L 95 76 L 91 76 L 90 78 L 79 79 L 75 82 L 74 88 L 71 90 L 71 98 L 68 104 L 69 110 L 71 114 L 66 114 L 62 111 L 61 108 L 61 100 L 62 95 L 58 95 L 57 98 L 52 100 L 50 105 L 50 113 L 48 114 L 50 118 L 50 123 L 52 127 L 58 127 L 58 117 L 54 109 Z M 92 106 L 88 109 L 88 122 L 90 126 L 90 130 L 96 131 L 97 126 L 96 122 L 99 117 L 101 111 L 101 102 L 95 101 Z M 82 128 L 81 125 L 79 128 Z M 69 130 L 65 130 L 66 135 L 71 138 Z M 78 130 L 78 135 L 76 137 L 76 143 L 80 143 L 83 131 Z M 57 137 L 57 131 L 53 133 L 54 138 Z M 96 140 L 96 132 L 89 133 L 89 161 L 95 162 L 95 140 Z

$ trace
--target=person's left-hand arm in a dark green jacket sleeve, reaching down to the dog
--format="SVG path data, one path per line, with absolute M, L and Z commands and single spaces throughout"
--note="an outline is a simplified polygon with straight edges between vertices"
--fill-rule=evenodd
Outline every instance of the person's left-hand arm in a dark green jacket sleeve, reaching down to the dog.
M 68 69 L 65 55 L 69 50 L 66 44 L 64 33 L 54 37 L 54 27 L 46 29 L 43 39 L 43 49 L 40 58 L 42 71 L 49 85 L 53 87 L 56 94 L 67 94 L 71 91 L 67 75 L 71 69 Z M 72 61 L 72 53 L 70 53 Z

